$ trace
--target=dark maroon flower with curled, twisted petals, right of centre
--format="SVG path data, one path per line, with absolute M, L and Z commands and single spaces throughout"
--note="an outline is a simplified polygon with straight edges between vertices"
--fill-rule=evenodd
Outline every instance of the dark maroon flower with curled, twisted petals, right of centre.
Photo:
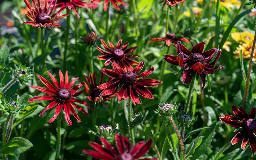
M 212 74 L 223 66 L 213 66 L 220 58 L 221 50 L 212 48 L 208 51 L 203 52 L 205 42 L 196 44 L 191 51 L 189 51 L 184 45 L 177 42 L 177 56 L 164 55 L 164 60 L 173 64 L 180 65 L 184 68 L 183 71 L 183 83 L 189 84 L 192 76 L 191 72 L 194 70 L 198 73 L 202 79 L 203 87 L 205 86 L 205 77 L 208 74 Z M 216 58 L 212 61 L 212 59 Z

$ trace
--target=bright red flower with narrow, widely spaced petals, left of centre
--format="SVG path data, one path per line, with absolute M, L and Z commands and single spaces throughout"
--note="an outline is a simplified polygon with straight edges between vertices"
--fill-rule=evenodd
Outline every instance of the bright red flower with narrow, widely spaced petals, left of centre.
M 44 110 L 40 113 L 39 116 L 42 116 L 45 111 L 47 111 L 55 106 L 56 106 L 55 114 L 50 119 L 49 123 L 52 123 L 57 118 L 57 116 L 60 114 L 62 108 L 64 108 L 65 119 L 69 125 L 72 125 L 72 122 L 70 120 L 70 112 L 74 115 L 74 117 L 77 119 L 78 122 L 81 122 L 81 119 L 79 118 L 79 116 L 77 116 L 76 111 L 73 108 L 73 106 L 76 107 L 79 111 L 81 111 L 84 114 L 86 114 L 87 116 L 89 116 L 88 113 L 86 113 L 82 107 L 80 107 L 76 104 L 76 103 L 80 103 L 80 104 L 87 105 L 87 103 L 82 100 L 77 100 L 77 99 L 73 98 L 73 97 L 79 96 L 81 93 L 83 93 L 85 91 L 85 89 L 84 89 L 82 91 L 77 92 L 78 89 L 83 86 L 82 83 L 71 89 L 71 87 L 75 84 L 76 80 L 79 77 L 76 77 L 70 83 L 68 83 L 68 71 L 67 71 L 66 75 L 65 75 L 65 82 L 64 82 L 64 76 L 63 76 L 61 70 L 59 70 L 59 74 L 60 74 L 60 85 L 59 85 L 59 83 L 55 79 L 55 77 L 52 76 L 52 74 L 49 71 L 47 71 L 47 72 L 50 75 L 52 82 L 55 86 L 53 86 L 49 81 L 47 81 L 42 76 L 38 76 L 38 78 L 47 88 L 38 87 L 38 86 L 30 86 L 31 88 L 35 88 L 38 91 L 50 94 L 50 96 L 33 97 L 28 100 L 29 102 L 32 102 L 34 100 L 54 100 L 46 108 L 44 108 Z M 74 103 L 74 102 L 76 102 L 76 103 Z M 90 106 L 88 106 L 88 107 L 90 108 Z

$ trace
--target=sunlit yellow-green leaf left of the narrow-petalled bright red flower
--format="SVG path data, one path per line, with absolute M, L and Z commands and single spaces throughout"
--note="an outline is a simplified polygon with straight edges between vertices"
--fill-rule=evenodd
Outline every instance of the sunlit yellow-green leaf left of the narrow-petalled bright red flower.
M 15 121 L 15 123 L 12 125 L 12 128 L 14 128 L 16 125 L 18 125 L 18 124 L 19 124 L 21 121 L 23 121 L 25 118 L 34 116 L 35 114 L 32 114 L 32 113 L 36 111 L 37 107 L 38 107 L 38 102 L 37 102 L 37 101 L 28 104 L 28 106 L 25 108 L 26 112 L 25 112 L 24 114 L 20 114 L 20 119 L 17 119 L 17 120 Z M 42 109 L 40 108 L 40 110 L 42 110 Z M 40 110 L 39 110 L 39 111 L 40 111 Z M 39 112 L 39 111 L 38 111 L 38 112 Z M 37 112 L 37 113 L 38 113 L 38 112 Z M 37 113 L 36 113 L 36 114 L 37 114 Z

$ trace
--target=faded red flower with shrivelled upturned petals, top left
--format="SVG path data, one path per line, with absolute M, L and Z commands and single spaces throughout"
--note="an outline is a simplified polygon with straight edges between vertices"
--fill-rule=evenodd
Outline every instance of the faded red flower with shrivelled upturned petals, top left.
M 68 16 L 64 14 L 60 16 L 60 11 L 55 11 L 56 0 L 48 1 L 44 0 L 41 4 L 40 0 L 32 0 L 32 5 L 28 0 L 24 0 L 29 10 L 27 11 L 27 17 L 31 21 L 25 21 L 25 24 L 31 25 L 32 27 L 60 27 L 59 23 L 61 18 Z

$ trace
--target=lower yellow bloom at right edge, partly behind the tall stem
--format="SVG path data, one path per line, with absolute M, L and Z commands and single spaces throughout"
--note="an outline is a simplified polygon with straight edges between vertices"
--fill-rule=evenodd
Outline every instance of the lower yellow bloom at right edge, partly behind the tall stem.
M 236 47 L 236 51 L 234 51 L 233 53 L 236 54 L 235 58 L 239 59 L 239 54 L 240 54 L 240 50 L 242 50 L 243 52 L 243 58 L 250 58 L 251 57 L 251 52 L 252 52 L 252 44 L 239 44 L 238 47 Z M 254 52 L 253 61 L 256 60 L 256 54 Z

